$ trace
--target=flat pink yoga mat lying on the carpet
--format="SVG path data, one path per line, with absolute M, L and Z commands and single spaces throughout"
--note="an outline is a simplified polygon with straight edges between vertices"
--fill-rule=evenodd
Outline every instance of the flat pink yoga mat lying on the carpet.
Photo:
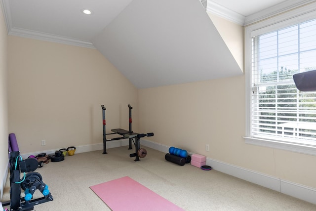
M 128 176 L 90 188 L 113 211 L 184 211 Z

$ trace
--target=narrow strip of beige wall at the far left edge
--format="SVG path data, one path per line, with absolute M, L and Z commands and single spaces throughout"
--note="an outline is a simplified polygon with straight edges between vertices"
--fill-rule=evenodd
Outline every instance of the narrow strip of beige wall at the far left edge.
M 7 32 L 0 4 L 0 199 L 8 165 Z

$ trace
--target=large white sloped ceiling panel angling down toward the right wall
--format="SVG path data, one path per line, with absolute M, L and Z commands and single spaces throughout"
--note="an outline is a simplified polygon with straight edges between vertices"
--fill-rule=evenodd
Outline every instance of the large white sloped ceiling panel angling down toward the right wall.
M 92 43 L 138 88 L 242 74 L 198 0 L 133 0 Z

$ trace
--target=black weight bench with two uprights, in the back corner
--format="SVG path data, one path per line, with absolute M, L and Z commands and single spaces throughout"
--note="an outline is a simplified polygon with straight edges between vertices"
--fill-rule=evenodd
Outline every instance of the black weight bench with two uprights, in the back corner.
M 105 110 L 106 108 L 104 105 L 101 105 L 102 107 L 102 115 L 103 115 L 103 153 L 102 154 L 107 154 L 107 147 L 106 147 L 106 142 L 107 141 L 113 141 L 113 140 L 120 140 L 120 139 L 129 139 L 129 148 L 128 149 L 133 149 L 132 148 L 132 142 L 135 145 L 135 153 L 132 153 L 129 155 L 129 157 L 136 157 L 135 161 L 139 161 L 139 158 L 145 158 L 147 155 L 147 151 L 144 148 L 140 148 L 140 138 L 145 137 L 145 136 L 153 136 L 154 133 L 136 133 L 132 131 L 132 108 L 130 105 L 128 105 L 128 111 L 129 111 L 129 130 L 121 129 L 121 128 L 116 128 L 116 129 L 111 129 L 113 133 L 106 133 L 106 120 L 105 120 Z M 111 138 L 107 139 L 106 135 L 110 134 L 119 134 L 121 137 L 116 137 L 116 138 Z M 135 138 L 135 141 L 134 141 Z

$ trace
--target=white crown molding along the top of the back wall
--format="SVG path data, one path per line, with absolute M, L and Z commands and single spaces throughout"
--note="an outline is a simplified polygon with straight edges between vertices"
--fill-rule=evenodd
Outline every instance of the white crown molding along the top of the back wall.
M 45 34 L 42 32 L 36 32 L 32 30 L 12 28 L 8 34 L 12 36 L 23 37 L 23 38 L 30 38 L 30 39 L 36 39 L 36 40 L 48 41 L 48 42 L 57 42 L 57 43 L 62 43 L 62 44 L 69 44 L 69 45 L 96 49 L 95 46 L 91 42 L 85 42 L 85 41 L 80 41 L 76 39 L 71 39 L 71 38 L 66 38 L 66 37 L 61 37 L 61 36 L 56 36 L 56 35 L 51 35 L 51 34 Z

